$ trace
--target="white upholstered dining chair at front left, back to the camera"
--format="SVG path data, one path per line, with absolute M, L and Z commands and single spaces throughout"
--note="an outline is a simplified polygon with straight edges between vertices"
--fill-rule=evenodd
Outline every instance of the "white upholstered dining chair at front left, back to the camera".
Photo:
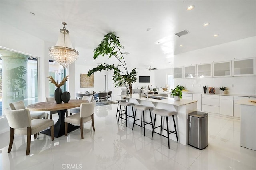
M 8 124 L 10 126 L 10 142 L 8 153 L 11 152 L 12 144 L 14 140 L 14 134 L 16 135 L 27 135 L 27 150 L 26 155 L 30 152 L 31 135 L 34 135 L 36 139 L 37 133 L 51 127 L 51 137 L 54 140 L 54 126 L 53 120 L 45 119 L 33 119 L 31 120 L 30 111 L 28 109 L 19 110 L 4 110 Z

